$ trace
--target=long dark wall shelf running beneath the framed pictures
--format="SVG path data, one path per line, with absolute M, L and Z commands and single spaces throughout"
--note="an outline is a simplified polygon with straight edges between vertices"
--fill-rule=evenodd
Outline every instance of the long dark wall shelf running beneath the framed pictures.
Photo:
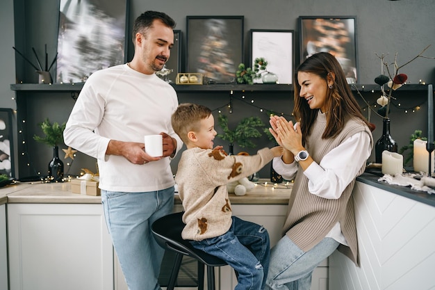
M 11 90 L 15 91 L 40 91 L 40 92 L 79 92 L 84 83 L 53 83 L 51 85 L 44 83 L 15 83 L 10 85 Z M 254 83 L 245 85 L 238 83 L 213 84 L 213 85 L 176 85 L 172 84 L 177 92 L 226 92 L 226 91 L 246 91 L 246 92 L 293 92 L 293 85 L 274 85 L 264 83 Z M 350 85 L 350 88 L 360 92 L 371 90 L 379 91 L 380 87 L 376 84 L 359 84 Z M 427 90 L 427 85 L 407 84 L 397 91 Z

